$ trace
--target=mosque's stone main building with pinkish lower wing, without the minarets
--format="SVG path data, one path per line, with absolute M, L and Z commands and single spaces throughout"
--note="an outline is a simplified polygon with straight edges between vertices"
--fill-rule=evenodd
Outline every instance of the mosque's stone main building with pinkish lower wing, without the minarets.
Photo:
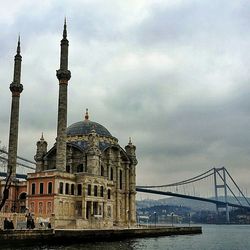
M 88 119 L 78 124 L 78 130 L 75 124 L 73 132 L 71 126 L 67 130 L 65 171 L 56 168 L 56 146 L 46 152 L 43 137 L 37 143 L 37 171 L 28 175 L 30 212 L 53 218 L 56 228 L 134 225 L 135 146 L 129 142 L 122 149 L 115 137 L 97 133 L 102 125 Z M 92 125 L 97 132 L 88 131 Z M 80 130 L 86 134 L 77 134 Z

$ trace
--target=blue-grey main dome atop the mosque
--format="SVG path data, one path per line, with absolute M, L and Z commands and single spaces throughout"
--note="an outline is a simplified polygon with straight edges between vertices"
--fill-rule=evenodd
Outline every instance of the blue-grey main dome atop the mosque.
M 92 122 L 92 121 L 87 120 L 87 119 L 85 119 L 84 121 L 80 121 L 80 122 L 76 122 L 76 123 L 71 124 L 67 128 L 67 135 L 68 136 L 87 135 L 92 130 L 95 130 L 95 132 L 98 135 L 113 137 L 104 126 L 102 126 L 101 124 L 99 124 L 97 122 Z

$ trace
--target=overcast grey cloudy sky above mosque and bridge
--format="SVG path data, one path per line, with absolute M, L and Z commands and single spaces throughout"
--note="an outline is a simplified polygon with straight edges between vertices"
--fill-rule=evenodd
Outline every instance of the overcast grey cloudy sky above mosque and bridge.
M 226 166 L 250 191 L 250 1 L 0 0 L 0 140 L 8 145 L 21 34 L 18 154 L 53 146 L 67 16 L 68 125 L 90 119 L 137 146 L 137 184 Z

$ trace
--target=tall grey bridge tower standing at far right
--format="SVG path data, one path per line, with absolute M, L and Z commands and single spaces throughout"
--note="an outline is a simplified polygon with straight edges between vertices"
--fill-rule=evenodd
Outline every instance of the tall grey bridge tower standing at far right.
M 218 179 L 219 177 L 219 179 Z M 224 202 L 226 205 L 216 204 L 216 212 L 219 214 L 219 208 L 226 209 L 226 222 L 230 223 L 229 216 L 229 207 L 228 207 L 228 197 L 227 197 L 227 180 L 226 180 L 226 169 L 222 168 L 214 168 L 214 191 L 215 191 L 215 199 L 218 201 L 218 191 L 223 190 L 224 193 Z

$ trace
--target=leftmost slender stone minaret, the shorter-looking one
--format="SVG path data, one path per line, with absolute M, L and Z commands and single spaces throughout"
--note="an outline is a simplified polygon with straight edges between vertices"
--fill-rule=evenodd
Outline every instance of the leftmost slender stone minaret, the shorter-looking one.
M 18 37 L 17 54 L 15 56 L 13 82 L 10 84 L 12 93 L 11 114 L 10 114 L 10 133 L 9 133 L 9 155 L 8 155 L 8 174 L 12 171 L 11 180 L 16 179 L 17 144 L 18 144 L 18 123 L 19 123 L 19 99 L 23 91 L 21 80 L 21 48 L 20 36 Z

